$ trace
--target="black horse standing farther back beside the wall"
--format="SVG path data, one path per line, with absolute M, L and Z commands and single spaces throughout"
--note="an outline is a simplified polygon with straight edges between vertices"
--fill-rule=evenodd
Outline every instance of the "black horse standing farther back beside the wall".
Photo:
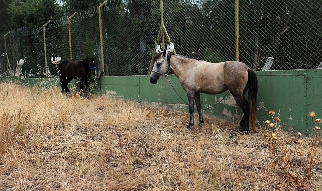
M 59 65 L 59 79 L 62 92 L 66 95 L 70 92 L 67 85 L 72 79 L 79 80 L 79 86 L 81 89 L 81 94 L 83 90 L 83 83 L 85 85 L 85 97 L 87 97 L 88 82 L 91 74 L 96 76 L 97 64 L 93 57 L 86 57 L 81 61 L 74 60 L 64 60 Z

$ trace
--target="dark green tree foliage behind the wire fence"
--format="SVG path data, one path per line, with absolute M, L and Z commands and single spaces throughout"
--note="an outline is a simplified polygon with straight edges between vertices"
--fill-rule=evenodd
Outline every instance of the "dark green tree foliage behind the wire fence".
M 3 2 L 0 22 L 6 28 L 1 28 L 4 30 L 2 34 L 9 28 L 23 26 L 39 29 L 48 20 L 70 16 L 75 12 L 79 16 L 79 13 L 93 6 L 97 10 L 97 5 L 103 0 Z M 255 70 L 263 67 L 268 56 L 275 58 L 271 69 L 316 67 L 322 57 L 320 5 L 322 0 L 240 0 L 240 61 Z M 210 62 L 235 60 L 235 1 L 166 0 L 163 1 L 163 7 L 164 24 L 177 53 Z M 3 19 L 7 16 L 9 19 Z M 79 18 L 79 21 L 72 23 L 73 58 L 91 55 L 100 58 L 97 13 L 92 19 Z M 66 22 L 61 26 L 46 34 L 47 53 L 68 58 L 68 27 Z M 108 1 L 102 7 L 106 73 L 146 74 L 155 45 L 160 43 L 156 42 L 159 29 L 159 1 Z M 42 63 L 44 57 L 41 51 L 36 50 L 43 46 L 39 38 L 42 34 L 37 35 L 33 37 L 35 39 L 25 40 L 25 54 L 37 60 L 35 64 Z M 162 37 L 165 35 L 161 34 Z

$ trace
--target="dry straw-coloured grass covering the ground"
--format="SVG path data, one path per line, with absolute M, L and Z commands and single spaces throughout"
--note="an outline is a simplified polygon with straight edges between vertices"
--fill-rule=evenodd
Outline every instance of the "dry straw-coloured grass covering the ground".
M 3 83 L 0 100 L 0 116 L 26 119 L 1 155 L 0 190 L 292 189 L 272 167 L 265 128 L 242 136 L 238 122 L 205 117 L 188 131 L 187 112 L 60 88 Z M 317 163 L 309 189 L 322 189 L 321 178 Z

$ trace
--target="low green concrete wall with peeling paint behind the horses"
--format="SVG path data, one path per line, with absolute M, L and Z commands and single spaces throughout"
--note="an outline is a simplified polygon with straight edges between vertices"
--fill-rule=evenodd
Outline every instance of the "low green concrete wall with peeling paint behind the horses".
M 316 112 L 317 117 L 322 118 L 322 70 L 280 70 L 280 71 L 256 71 L 258 77 L 257 120 L 258 126 L 264 126 L 270 110 L 282 120 L 282 127 L 309 133 L 312 120 L 308 117 L 311 111 Z M 187 102 L 186 93 L 174 75 L 168 76 L 174 88 Z M 19 81 L 23 84 L 41 86 L 60 86 L 57 78 L 26 78 L 2 77 L 4 81 Z M 97 86 L 98 79 L 91 79 Z M 73 80 L 68 87 L 77 86 L 77 80 Z M 143 102 L 151 106 L 167 107 L 174 110 L 188 112 L 188 106 L 176 94 L 166 77 L 160 78 L 157 84 L 151 84 L 149 76 L 109 76 L 101 77 L 101 90 L 91 86 L 91 92 L 101 96 L 125 98 Z M 208 95 L 201 93 L 202 108 L 218 103 L 226 95 Z M 197 114 L 197 112 L 195 112 Z M 203 111 L 203 113 L 220 118 L 229 118 L 240 121 L 241 109 L 237 106 L 230 93 L 216 107 Z M 188 122 L 187 122 L 188 123 Z

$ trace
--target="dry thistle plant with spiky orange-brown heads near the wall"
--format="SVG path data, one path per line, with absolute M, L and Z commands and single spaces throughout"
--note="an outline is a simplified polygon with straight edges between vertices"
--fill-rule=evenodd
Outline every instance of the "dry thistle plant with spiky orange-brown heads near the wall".
M 272 117 L 272 122 L 266 120 L 265 123 L 273 129 L 273 132 L 269 136 L 268 142 L 274 158 L 273 168 L 277 169 L 276 172 L 282 179 L 281 183 L 292 189 L 309 188 L 317 164 L 316 147 L 320 140 L 319 124 L 322 123 L 322 120 L 314 120 L 316 114 L 309 113 L 312 118 L 312 137 L 305 144 L 305 139 L 300 132 L 287 140 L 286 136 L 283 136 L 279 117 L 275 116 L 274 111 L 270 111 L 269 115 Z

